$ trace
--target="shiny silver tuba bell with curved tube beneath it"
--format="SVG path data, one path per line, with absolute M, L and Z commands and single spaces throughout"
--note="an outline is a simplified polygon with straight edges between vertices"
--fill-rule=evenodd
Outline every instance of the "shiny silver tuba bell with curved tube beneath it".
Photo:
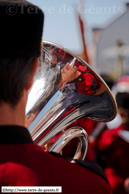
M 88 135 L 76 120 L 107 122 L 116 116 L 116 102 L 102 78 L 80 57 L 62 46 L 44 41 L 39 67 L 26 106 L 26 127 L 34 142 L 45 146 L 61 133 L 48 151 L 59 153 L 78 137 L 74 159 L 84 159 Z

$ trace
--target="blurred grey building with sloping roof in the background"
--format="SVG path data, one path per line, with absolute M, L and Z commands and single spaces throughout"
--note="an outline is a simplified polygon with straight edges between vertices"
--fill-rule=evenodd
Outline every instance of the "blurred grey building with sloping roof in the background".
M 114 79 L 129 73 L 129 3 L 126 11 L 106 28 L 93 28 L 96 69 Z

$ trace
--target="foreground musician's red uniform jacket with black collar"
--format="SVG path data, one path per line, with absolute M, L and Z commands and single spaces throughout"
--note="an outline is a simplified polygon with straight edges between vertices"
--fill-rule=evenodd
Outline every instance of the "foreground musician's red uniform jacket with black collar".
M 0 156 L 0 186 L 62 186 L 66 194 L 111 193 L 97 172 L 44 152 L 21 126 L 0 127 Z

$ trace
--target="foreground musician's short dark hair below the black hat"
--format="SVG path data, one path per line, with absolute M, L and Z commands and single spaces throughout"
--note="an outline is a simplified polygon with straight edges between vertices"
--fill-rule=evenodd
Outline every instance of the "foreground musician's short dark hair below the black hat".
M 30 57 L 0 59 L 0 104 L 17 105 L 26 86 L 32 60 Z

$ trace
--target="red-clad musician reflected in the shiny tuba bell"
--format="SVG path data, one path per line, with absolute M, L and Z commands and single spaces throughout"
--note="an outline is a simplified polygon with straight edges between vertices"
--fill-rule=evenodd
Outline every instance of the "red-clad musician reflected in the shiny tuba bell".
M 71 84 L 72 82 L 75 87 L 74 90 L 78 93 L 82 93 L 89 96 L 94 94 L 98 95 L 97 90 L 100 90 L 101 83 L 87 69 L 86 66 L 84 67 L 81 62 L 76 61 L 73 67 L 68 67 L 68 62 L 73 60 L 73 57 L 62 49 L 57 49 L 56 47 L 53 47 L 50 50 L 50 54 L 52 56 L 52 63 L 58 64 L 62 62 L 62 64 L 64 64 L 61 72 L 64 73 L 65 84 L 68 82 L 70 82 L 69 84 Z M 62 64 L 60 64 L 60 66 L 62 66 Z M 68 76 L 68 72 L 70 72 L 70 76 Z M 69 79 L 69 77 L 71 77 L 71 80 Z

